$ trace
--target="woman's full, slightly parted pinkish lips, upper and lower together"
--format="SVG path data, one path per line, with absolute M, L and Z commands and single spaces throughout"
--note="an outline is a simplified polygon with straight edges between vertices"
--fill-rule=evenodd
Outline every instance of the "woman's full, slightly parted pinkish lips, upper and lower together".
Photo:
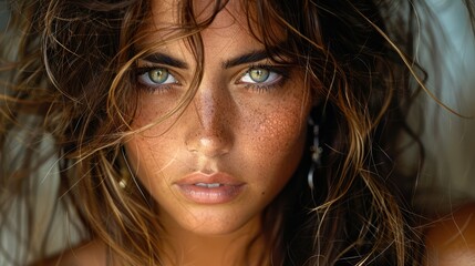
M 204 186 L 204 184 L 210 186 Z M 231 202 L 241 194 L 245 183 L 221 172 L 214 174 L 197 172 L 185 176 L 174 185 L 187 200 L 194 203 L 224 204 Z

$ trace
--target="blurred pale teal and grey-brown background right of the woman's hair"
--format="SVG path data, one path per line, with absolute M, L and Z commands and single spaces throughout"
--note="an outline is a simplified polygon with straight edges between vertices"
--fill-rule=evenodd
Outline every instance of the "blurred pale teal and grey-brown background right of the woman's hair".
M 468 13 L 461 0 L 430 0 L 441 21 L 436 35 L 438 53 L 420 47 L 421 62 L 428 70 L 428 89 L 457 116 L 424 93 L 424 133 L 427 162 L 422 182 L 438 182 L 448 197 L 475 197 L 475 41 Z M 430 45 L 431 43 L 428 43 Z M 437 59 L 435 60 L 434 57 Z M 431 66 L 441 68 L 441 73 Z

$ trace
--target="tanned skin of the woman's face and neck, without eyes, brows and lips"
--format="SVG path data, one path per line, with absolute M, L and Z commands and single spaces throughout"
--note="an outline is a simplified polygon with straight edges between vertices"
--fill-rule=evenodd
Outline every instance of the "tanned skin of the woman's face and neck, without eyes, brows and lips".
M 205 4 L 196 7 L 197 13 L 205 18 L 209 10 L 206 2 L 200 3 Z M 144 29 L 151 34 L 144 47 L 163 40 L 168 33 L 164 27 L 178 24 L 175 13 L 174 2 L 153 1 L 153 20 Z M 167 233 L 165 250 L 172 260 L 180 265 L 240 265 L 247 262 L 242 260 L 247 256 L 244 250 L 256 237 L 251 257 L 267 253 L 260 235 L 261 212 L 300 161 L 311 101 L 299 71 L 286 69 L 286 76 L 272 73 L 266 82 L 254 84 L 247 74 L 250 64 L 271 64 L 269 59 L 224 66 L 264 50 L 250 35 L 238 1 L 230 1 L 202 35 L 204 76 L 193 101 L 125 143 L 126 154 L 136 176 L 158 203 L 158 218 Z M 149 125 L 176 106 L 196 65 L 183 40 L 154 52 L 187 66 L 138 61 L 140 68 L 166 68 L 174 82 L 142 90 L 135 129 Z M 148 73 L 141 75 L 138 83 L 152 84 Z M 176 185 L 192 173 L 226 173 L 242 184 L 241 191 L 226 203 L 193 202 Z

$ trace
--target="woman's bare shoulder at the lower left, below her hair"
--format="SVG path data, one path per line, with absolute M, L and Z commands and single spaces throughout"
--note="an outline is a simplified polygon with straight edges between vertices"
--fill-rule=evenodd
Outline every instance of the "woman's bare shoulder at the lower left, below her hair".
M 93 241 L 34 266 L 104 266 L 105 245 Z

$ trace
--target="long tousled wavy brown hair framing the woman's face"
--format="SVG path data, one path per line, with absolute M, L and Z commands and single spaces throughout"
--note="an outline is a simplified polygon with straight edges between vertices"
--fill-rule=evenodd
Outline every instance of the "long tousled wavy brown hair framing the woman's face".
M 169 37 L 185 39 L 195 54 L 195 89 L 204 62 L 199 33 L 226 1 L 214 4 L 214 13 L 197 21 L 193 1 L 180 1 L 182 24 Z M 306 151 L 265 211 L 275 264 L 417 265 L 423 250 L 411 203 L 417 167 L 403 174 L 397 158 L 403 136 L 419 145 L 405 119 L 423 85 L 413 51 L 420 7 L 383 0 L 242 0 L 242 7 L 269 58 L 306 70 L 318 102 L 310 115 L 323 143 L 316 188 L 307 185 L 311 152 Z M 111 263 L 161 265 L 156 206 L 121 153 L 134 133 L 134 65 L 154 49 L 136 45 L 147 34 L 142 29 L 149 2 L 23 0 L 12 1 L 11 11 L 1 44 L 1 229 L 12 226 L 4 217 L 21 207 L 28 231 L 18 233 L 19 245 L 34 252 L 23 241 L 34 235 L 33 203 L 42 182 L 34 173 L 54 158 L 54 202 L 78 216 L 83 239 L 104 242 Z M 17 137 L 21 145 L 12 149 Z

